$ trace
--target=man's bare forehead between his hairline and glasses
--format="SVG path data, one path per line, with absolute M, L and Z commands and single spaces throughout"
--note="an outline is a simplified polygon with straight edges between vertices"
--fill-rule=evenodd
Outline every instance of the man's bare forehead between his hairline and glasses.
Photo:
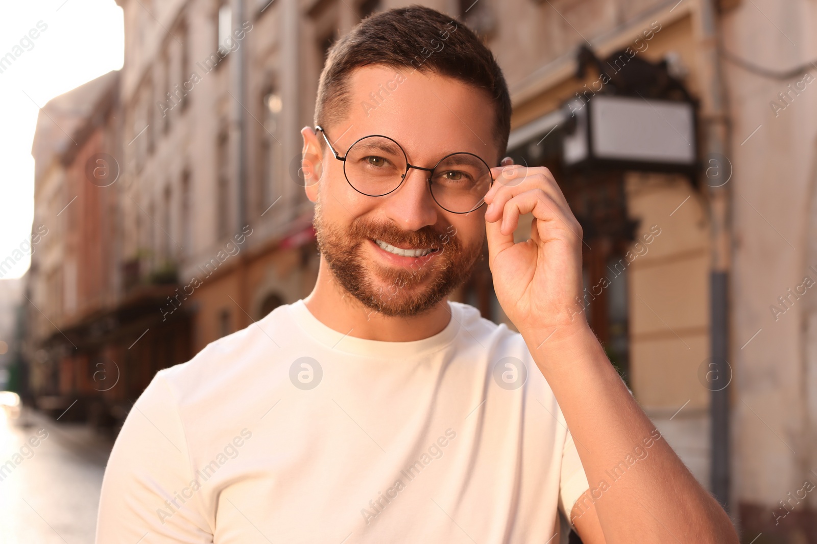
M 458 151 L 498 161 L 488 94 L 452 77 L 369 65 L 349 78 L 350 113 L 333 127 L 339 153 L 366 135 L 395 139 L 414 164 Z

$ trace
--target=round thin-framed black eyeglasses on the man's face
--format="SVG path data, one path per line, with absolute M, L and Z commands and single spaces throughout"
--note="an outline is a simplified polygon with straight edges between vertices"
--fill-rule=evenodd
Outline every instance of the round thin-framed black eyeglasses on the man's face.
M 467 214 L 484 204 L 485 194 L 493 185 L 488 164 L 474 153 L 450 153 L 433 168 L 408 163 L 403 148 L 388 136 L 364 136 L 351 144 L 346 155 L 335 151 L 319 125 L 324 139 L 338 161 L 343 161 L 343 174 L 351 188 L 368 197 L 382 197 L 395 191 L 403 183 L 408 169 L 428 172 L 431 197 L 443 210 L 453 214 Z

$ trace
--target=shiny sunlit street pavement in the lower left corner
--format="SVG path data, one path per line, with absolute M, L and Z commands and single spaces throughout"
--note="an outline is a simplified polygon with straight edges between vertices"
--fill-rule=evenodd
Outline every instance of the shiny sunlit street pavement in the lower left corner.
M 113 439 L 0 407 L 0 544 L 92 544 Z

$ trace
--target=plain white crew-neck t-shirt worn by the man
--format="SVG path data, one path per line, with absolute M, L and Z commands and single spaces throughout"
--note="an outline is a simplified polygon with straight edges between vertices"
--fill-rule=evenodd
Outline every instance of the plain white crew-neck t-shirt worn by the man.
M 161 370 L 96 542 L 565 540 L 588 484 L 551 388 L 520 334 L 449 309 L 439 334 L 381 342 L 299 300 Z

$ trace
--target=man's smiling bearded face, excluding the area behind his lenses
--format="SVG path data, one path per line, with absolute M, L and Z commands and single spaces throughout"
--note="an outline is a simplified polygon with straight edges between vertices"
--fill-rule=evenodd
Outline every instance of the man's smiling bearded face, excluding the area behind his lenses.
M 351 74 L 350 110 L 341 124 L 324 126 L 341 156 L 359 138 L 385 135 L 415 166 L 432 168 L 455 152 L 498 163 L 493 104 L 452 78 L 365 66 Z M 431 197 L 430 173 L 413 168 L 395 191 L 369 197 L 350 187 L 343 162 L 324 148 L 319 182 L 306 192 L 315 201 L 322 259 L 346 292 L 386 316 L 414 316 L 467 279 L 482 253 L 484 206 L 467 214 L 444 210 Z

